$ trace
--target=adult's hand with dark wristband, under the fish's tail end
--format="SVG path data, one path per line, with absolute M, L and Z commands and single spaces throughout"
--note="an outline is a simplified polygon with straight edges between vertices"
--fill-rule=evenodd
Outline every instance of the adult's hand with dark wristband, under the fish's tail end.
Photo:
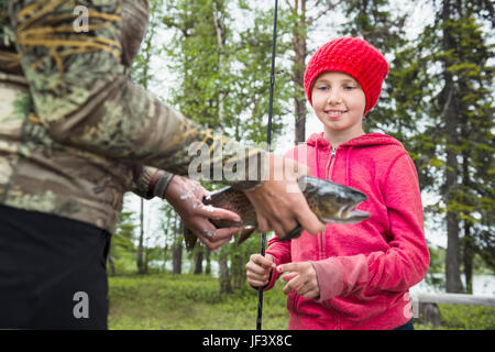
M 216 250 L 228 243 L 232 235 L 241 231 L 241 228 L 217 229 L 209 220 L 223 219 L 240 222 L 241 218 L 235 212 L 205 206 L 202 198 L 209 194 L 198 182 L 174 176 L 164 198 L 174 207 L 184 224 L 198 237 L 199 241 L 208 249 Z

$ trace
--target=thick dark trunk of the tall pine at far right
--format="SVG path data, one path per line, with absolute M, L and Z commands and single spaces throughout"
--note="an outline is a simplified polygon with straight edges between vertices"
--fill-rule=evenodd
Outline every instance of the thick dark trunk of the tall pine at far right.
M 442 9 L 443 24 L 451 20 L 450 1 L 443 0 Z M 452 41 L 448 28 L 443 26 L 443 52 L 452 50 Z M 443 88 L 443 119 L 447 136 L 447 177 L 446 177 L 446 202 L 447 202 L 447 254 L 446 254 L 446 290 L 447 293 L 463 293 L 464 288 L 461 282 L 460 271 L 460 240 L 459 240 L 459 217 L 450 206 L 454 200 L 454 190 L 458 188 L 458 153 L 451 147 L 459 145 L 458 142 L 458 113 L 454 99 L 454 82 L 452 74 L 449 72 L 449 58 L 443 58 L 444 72 L 443 78 L 446 86 Z

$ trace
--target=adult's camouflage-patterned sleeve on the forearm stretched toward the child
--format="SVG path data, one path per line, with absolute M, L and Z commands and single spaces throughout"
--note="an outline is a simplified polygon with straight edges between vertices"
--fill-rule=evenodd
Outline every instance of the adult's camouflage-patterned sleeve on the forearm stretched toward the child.
M 261 170 L 253 177 L 250 169 L 251 180 L 244 182 L 237 167 L 241 160 L 257 165 L 265 152 L 213 135 L 131 81 L 122 64 L 121 1 L 84 3 L 89 32 L 77 33 L 75 1 L 9 1 L 16 51 L 50 135 L 130 164 L 185 176 L 194 166 L 202 178 L 242 189 L 258 185 Z M 201 162 L 195 164 L 199 154 Z M 229 163 L 234 172 L 226 175 L 220 170 Z

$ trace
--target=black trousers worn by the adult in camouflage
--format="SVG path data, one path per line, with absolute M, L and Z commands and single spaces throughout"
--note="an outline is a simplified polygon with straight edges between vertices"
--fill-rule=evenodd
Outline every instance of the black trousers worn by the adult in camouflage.
M 0 206 L 0 329 L 107 329 L 110 233 Z

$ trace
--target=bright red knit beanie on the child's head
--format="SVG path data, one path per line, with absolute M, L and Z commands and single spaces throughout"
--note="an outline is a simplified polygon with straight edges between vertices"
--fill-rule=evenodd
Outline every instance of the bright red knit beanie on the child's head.
M 340 37 L 324 44 L 306 67 L 305 90 L 311 106 L 312 82 L 321 73 L 330 70 L 349 74 L 358 80 L 366 97 L 366 114 L 378 101 L 388 64 L 377 48 L 359 37 Z

